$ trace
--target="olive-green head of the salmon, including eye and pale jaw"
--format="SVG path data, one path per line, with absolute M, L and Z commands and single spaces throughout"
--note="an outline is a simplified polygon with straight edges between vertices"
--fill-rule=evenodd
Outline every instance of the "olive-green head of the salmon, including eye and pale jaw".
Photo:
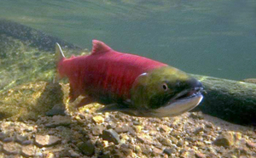
M 171 66 L 137 77 L 131 88 L 132 116 L 178 116 L 201 102 L 202 85 L 192 76 Z

